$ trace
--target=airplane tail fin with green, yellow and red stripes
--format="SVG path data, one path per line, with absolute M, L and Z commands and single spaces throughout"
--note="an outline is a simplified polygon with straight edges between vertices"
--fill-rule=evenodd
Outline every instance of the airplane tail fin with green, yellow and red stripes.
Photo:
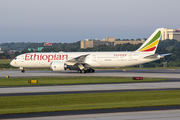
M 158 28 L 135 52 L 155 54 L 164 28 Z

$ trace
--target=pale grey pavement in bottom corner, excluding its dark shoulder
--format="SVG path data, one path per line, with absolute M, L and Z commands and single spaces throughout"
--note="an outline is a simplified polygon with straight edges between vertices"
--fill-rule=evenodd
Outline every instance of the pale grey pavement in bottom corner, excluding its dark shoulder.
M 53 116 L 42 118 L 30 118 L 27 120 L 179 120 L 180 110 L 164 111 L 141 111 L 141 112 L 122 112 L 122 113 L 104 113 L 90 115 L 71 115 L 71 116 Z M 20 119 L 21 120 L 21 119 Z

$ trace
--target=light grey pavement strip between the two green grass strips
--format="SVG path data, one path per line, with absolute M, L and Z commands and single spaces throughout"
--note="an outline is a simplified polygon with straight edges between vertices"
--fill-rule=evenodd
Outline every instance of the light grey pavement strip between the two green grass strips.
M 85 91 L 117 91 L 117 90 L 154 90 L 180 89 L 179 82 L 152 83 L 114 83 L 114 84 L 86 84 L 86 85 L 56 85 L 56 86 L 27 86 L 1 87 L 0 95 L 17 93 L 56 93 L 56 92 L 85 92 Z

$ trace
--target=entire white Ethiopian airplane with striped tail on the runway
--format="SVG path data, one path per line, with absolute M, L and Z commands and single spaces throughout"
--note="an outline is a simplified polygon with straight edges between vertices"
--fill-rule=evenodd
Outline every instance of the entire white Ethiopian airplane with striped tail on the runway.
M 25 68 L 50 68 L 52 71 L 77 70 L 78 73 L 94 73 L 92 68 L 127 67 L 164 58 L 171 53 L 155 54 L 164 28 L 158 28 L 133 52 L 33 52 L 18 55 L 10 65 Z

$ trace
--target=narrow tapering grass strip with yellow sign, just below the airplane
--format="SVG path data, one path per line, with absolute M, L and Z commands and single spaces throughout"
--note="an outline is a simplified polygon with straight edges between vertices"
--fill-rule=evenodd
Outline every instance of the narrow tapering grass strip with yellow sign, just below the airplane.
M 37 84 L 28 83 L 28 80 L 38 80 Z M 0 86 L 29 86 L 29 85 L 62 85 L 62 84 L 89 84 L 89 83 L 124 83 L 124 82 L 151 82 L 167 79 L 144 78 L 144 80 L 132 80 L 132 78 L 119 77 L 37 77 L 37 78 L 0 78 Z

